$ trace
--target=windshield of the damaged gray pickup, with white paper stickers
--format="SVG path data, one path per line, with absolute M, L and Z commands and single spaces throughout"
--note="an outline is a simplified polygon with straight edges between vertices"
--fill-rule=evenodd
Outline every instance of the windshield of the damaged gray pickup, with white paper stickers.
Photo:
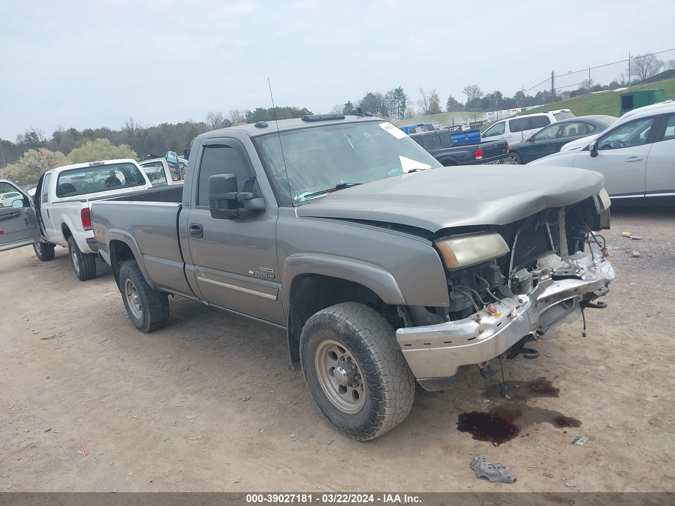
M 368 183 L 441 167 L 431 154 L 387 121 L 317 125 L 281 132 L 281 136 L 267 134 L 254 138 L 254 142 L 282 205 L 304 202 L 306 195 L 342 183 Z

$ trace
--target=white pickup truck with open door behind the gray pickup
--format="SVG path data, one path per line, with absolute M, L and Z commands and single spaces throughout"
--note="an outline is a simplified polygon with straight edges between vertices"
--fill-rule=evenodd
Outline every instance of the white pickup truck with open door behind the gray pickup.
M 20 192 L 24 198 L 0 209 L 0 251 L 32 244 L 37 257 L 46 262 L 54 258 L 55 246 L 63 246 L 68 248 L 78 279 L 91 279 L 96 276 L 98 256 L 91 226 L 92 200 L 150 188 L 150 179 L 132 159 L 51 169 L 38 181 L 34 198 L 2 179 L 0 193 Z

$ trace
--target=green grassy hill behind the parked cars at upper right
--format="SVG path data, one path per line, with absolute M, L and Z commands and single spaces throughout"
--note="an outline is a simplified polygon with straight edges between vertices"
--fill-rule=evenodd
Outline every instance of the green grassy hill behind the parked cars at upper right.
M 607 114 L 618 117 L 620 111 L 619 94 L 635 90 L 653 90 L 657 88 L 664 88 L 666 90 L 666 100 L 675 99 L 675 79 L 666 79 L 663 81 L 650 82 L 649 84 L 631 86 L 628 90 L 622 90 L 620 92 L 606 91 L 602 93 L 589 93 L 587 95 L 575 96 L 574 99 L 562 100 L 552 104 L 542 105 L 536 109 L 530 109 L 529 111 L 523 111 L 523 114 L 551 111 L 553 109 L 570 109 L 575 116 Z

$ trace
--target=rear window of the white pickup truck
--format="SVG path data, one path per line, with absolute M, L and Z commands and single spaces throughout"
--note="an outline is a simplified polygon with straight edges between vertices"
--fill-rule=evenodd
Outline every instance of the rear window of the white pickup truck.
M 143 184 L 145 179 L 133 163 L 92 165 L 61 172 L 56 181 L 56 196 L 70 197 Z

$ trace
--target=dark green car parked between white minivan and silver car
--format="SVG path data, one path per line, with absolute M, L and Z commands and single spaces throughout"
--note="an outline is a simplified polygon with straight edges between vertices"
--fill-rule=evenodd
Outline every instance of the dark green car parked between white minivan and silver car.
M 511 163 L 522 165 L 557 153 L 564 144 L 572 140 L 599 134 L 616 119 L 618 118 L 614 116 L 593 115 L 571 117 L 551 123 L 526 140 L 510 144 Z

